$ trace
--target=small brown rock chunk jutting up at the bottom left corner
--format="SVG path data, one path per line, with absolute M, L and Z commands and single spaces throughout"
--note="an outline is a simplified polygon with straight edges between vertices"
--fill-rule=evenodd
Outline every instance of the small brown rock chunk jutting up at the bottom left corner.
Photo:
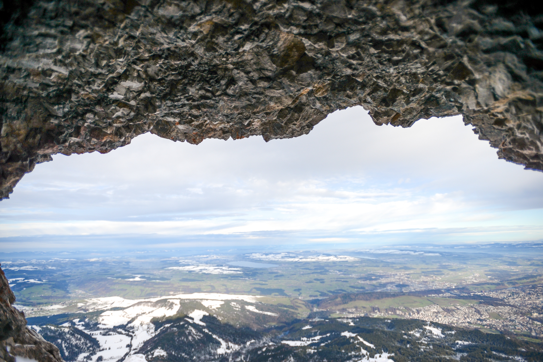
M 59 349 L 27 327 L 24 313 L 11 304 L 15 296 L 0 268 L 0 362 L 15 362 L 16 357 L 38 362 L 63 362 Z

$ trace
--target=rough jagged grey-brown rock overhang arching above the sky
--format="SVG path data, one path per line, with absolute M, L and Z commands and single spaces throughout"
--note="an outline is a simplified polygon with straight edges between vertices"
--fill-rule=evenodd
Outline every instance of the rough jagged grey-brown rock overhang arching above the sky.
M 500 158 L 543 170 L 537 2 L 138 1 L 36 1 L 7 23 L 1 198 L 56 153 L 149 131 L 295 137 L 355 105 L 379 125 L 462 114 Z

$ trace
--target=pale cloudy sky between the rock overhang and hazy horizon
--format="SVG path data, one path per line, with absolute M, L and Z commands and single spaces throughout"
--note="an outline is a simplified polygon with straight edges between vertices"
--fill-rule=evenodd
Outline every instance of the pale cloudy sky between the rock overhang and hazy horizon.
M 151 134 L 54 155 L 0 202 L 4 251 L 543 240 L 543 173 L 461 116 L 376 126 L 357 106 L 308 135 L 199 145 Z

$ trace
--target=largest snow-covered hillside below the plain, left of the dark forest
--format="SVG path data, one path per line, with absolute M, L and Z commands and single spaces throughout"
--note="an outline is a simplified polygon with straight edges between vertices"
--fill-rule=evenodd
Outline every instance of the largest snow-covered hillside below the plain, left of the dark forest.
M 217 293 L 180 294 L 130 300 L 122 297 L 94 298 L 80 302 L 78 316 L 65 318 L 60 326 L 33 326 L 46 339 L 59 345 L 67 361 L 115 362 L 138 354 L 146 341 L 159 333 L 157 321 L 184 318 L 194 325 L 204 315 L 232 325 L 268 327 L 267 323 L 293 319 L 293 312 L 258 302 L 260 296 Z M 81 317 L 79 317 L 81 316 Z M 34 319 L 30 318 L 32 322 Z M 54 322 L 39 317 L 43 323 Z M 43 324 L 42 323 L 42 324 Z M 43 332 L 42 332 L 43 331 Z M 79 334 L 78 334 L 79 332 Z M 81 336 L 88 336 L 87 339 Z M 211 336 L 210 338 L 213 339 Z M 85 344 L 85 341 L 86 344 Z M 220 342 L 225 351 L 229 342 Z

